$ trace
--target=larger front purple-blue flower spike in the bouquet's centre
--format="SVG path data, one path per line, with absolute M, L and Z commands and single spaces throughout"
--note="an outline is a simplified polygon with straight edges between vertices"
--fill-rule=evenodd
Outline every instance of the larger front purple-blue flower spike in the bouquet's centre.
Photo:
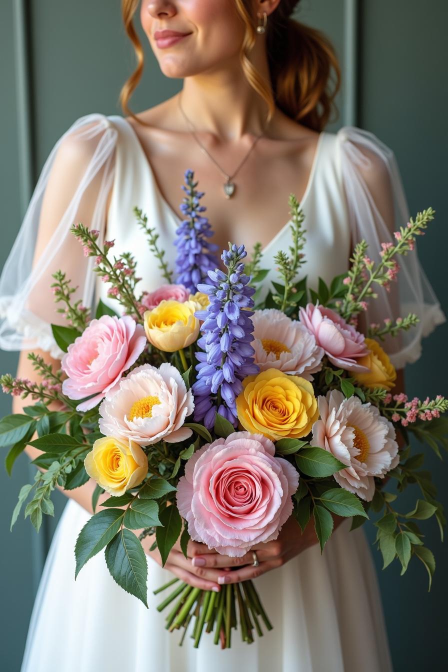
M 203 421 L 208 429 L 214 426 L 215 413 L 236 426 L 235 398 L 242 390 L 242 380 L 259 372 L 254 364 L 253 311 L 249 276 L 244 275 L 241 259 L 247 255 L 244 245 L 231 245 L 221 259 L 227 273 L 216 268 L 208 271 L 211 285 L 199 284 L 199 292 L 208 294 L 206 310 L 197 310 L 197 318 L 204 320 L 201 338 L 197 341 L 203 352 L 197 352 L 197 380 L 192 390 L 195 397 L 194 419 Z

